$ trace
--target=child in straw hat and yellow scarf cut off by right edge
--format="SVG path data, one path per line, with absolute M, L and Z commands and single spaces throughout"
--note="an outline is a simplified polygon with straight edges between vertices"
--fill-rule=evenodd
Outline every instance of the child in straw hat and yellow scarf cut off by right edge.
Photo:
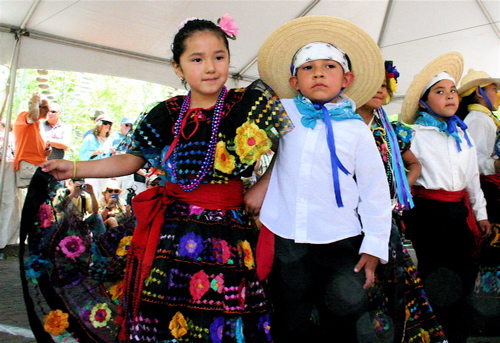
M 494 152 L 500 121 L 493 114 L 498 109 L 500 79 L 484 71 L 469 69 L 461 81 L 458 94 L 462 98 L 458 115 L 467 124 L 474 139 L 479 172 L 491 175 L 500 172 L 500 160 Z

